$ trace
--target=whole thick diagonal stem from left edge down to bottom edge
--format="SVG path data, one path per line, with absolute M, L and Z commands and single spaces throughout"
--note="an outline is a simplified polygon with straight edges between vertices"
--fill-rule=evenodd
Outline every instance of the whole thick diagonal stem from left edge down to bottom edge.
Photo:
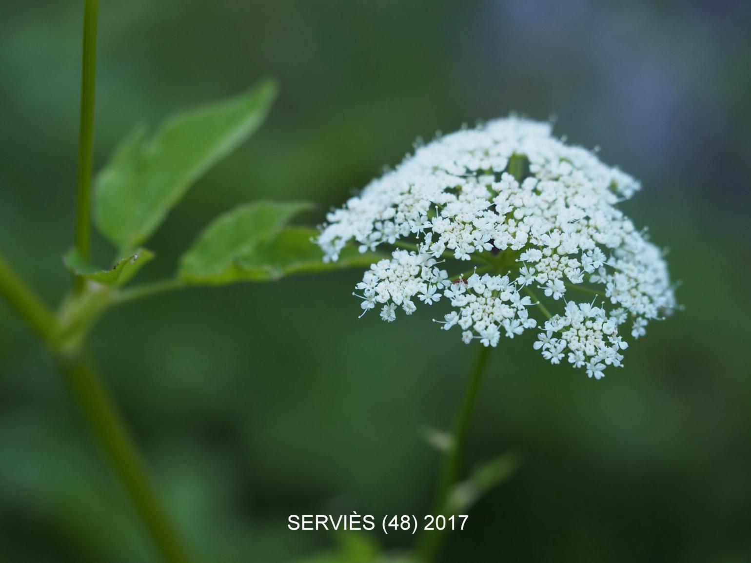
M 176 529 L 161 506 L 146 464 L 128 434 L 113 400 L 104 389 L 92 363 L 67 354 L 56 341 L 59 323 L 47 305 L 27 286 L 0 254 L 0 297 L 29 324 L 56 358 L 71 392 L 86 415 L 104 456 L 140 516 L 155 546 L 169 563 L 188 563 Z

